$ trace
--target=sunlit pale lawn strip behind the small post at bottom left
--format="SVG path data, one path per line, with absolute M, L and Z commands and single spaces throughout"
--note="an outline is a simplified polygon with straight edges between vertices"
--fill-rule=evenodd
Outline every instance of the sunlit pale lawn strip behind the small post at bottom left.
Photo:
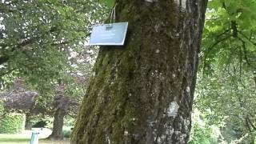
M 69 140 L 52 141 L 46 139 L 51 130 L 49 129 L 34 129 L 39 132 L 39 144 L 69 144 Z M 33 130 L 24 130 L 22 134 L 0 134 L 0 144 L 29 144 Z

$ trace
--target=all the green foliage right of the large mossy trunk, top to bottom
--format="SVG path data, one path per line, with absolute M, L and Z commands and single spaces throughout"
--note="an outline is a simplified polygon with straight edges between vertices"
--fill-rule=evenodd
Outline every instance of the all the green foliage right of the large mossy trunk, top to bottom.
M 210 126 L 222 123 L 227 143 L 255 138 L 255 9 L 255 0 L 208 3 L 194 107 Z

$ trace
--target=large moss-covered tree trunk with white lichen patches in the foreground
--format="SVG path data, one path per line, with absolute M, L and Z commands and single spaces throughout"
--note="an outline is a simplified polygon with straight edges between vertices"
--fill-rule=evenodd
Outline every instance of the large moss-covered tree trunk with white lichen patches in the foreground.
M 206 0 L 117 2 L 126 45 L 101 47 L 71 142 L 186 143 Z

